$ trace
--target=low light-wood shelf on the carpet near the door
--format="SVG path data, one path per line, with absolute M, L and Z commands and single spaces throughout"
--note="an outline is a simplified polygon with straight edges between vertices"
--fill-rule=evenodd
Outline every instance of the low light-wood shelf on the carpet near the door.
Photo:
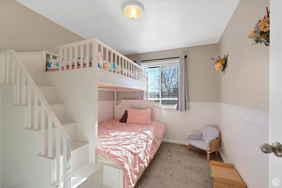
M 246 188 L 233 164 L 210 161 L 210 167 L 215 188 Z

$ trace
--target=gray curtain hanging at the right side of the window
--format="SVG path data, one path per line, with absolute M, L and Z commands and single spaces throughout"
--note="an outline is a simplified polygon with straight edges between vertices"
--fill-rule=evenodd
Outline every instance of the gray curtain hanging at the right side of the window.
M 179 85 L 178 85 L 178 101 L 176 110 L 186 111 L 188 107 L 188 88 L 186 80 L 186 66 L 184 54 L 180 54 L 179 57 Z

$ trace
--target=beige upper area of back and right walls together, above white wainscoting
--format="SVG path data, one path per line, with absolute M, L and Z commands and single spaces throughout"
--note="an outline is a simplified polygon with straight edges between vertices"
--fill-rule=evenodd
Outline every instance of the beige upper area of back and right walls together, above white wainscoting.
M 240 1 L 218 44 L 177 48 L 127 57 L 157 59 L 187 54 L 186 74 L 188 100 L 191 102 L 222 102 L 268 111 L 269 47 L 252 45 L 248 34 L 266 13 L 269 1 Z M 250 10 L 252 7 L 252 10 Z M 242 14 L 243 12 L 243 14 Z M 251 15 L 251 16 L 250 16 Z M 216 72 L 211 57 L 229 54 L 225 74 Z M 134 93 L 118 92 L 118 100 L 133 99 Z

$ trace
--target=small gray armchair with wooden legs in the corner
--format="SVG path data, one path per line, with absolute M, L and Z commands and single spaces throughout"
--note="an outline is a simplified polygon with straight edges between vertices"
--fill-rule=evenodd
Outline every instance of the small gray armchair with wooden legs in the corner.
M 215 151 L 218 156 L 217 150 L 221 144 L 221 132 L 213 127 L 204 126 L 201 132 L 188 133 L 187 143 L 189 144 L 187 150 L 190 150 L 191 145 L 202 149 L 208 153 L 207 160 L 210 161 L 210 153 Z

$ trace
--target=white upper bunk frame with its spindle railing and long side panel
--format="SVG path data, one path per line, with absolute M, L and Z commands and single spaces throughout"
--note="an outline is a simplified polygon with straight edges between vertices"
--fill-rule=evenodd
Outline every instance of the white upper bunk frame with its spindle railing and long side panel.
M 43 74 L 84 70 L 94 67 L 97 68 L 98 72 L 98 90 L 147 91 L 148 89 L 147 70 L 96 38 L 62 45 L 58 48 L 59 55 L 43 51 Z M 113 68 L 111 68 L 111 71 L 98 68 L 98 52 L 102 54 L 103 60 L 105 60 L 106 63 L 111 63 L 111 67 L 113 67 L 113 63 L 115 63 L 115 67 L 122 67 L 123 71 L 114 72 Z M 64 56 L 62 56 L 62 54 L 64 54 Z M 91 55 L 93 57 L 92 65 L 95 65 L 93 67 L 91 67 L 92 65 L 89 65 L 89 56 Z M 59 61 L 60 65 L 58 71 L 46 72 L 46 57 L 57 59 Z M 85 68 L 78 68 L 78 57 L 86 57 Z M 75 59 L 75 65 L 70 66 L 69 70 L 62 70 L 62 65 L 64 65 L 63 67 L 66 67 L 67 60 L 73 58 Z

